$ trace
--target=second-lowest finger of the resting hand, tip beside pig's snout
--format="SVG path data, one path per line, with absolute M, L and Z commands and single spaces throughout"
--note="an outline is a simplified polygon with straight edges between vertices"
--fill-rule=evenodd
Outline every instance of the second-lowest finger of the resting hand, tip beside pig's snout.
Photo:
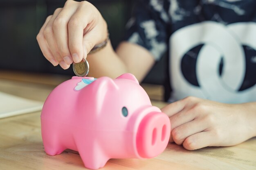
M 191 122 L 177 126 L 172 131 L 173 141 L 176 144 L 181 145 L 187 137 L 202 132 L 207 129 L 207 127 L 207 122 L 204 122 L 201 119 L 196 119 Z

